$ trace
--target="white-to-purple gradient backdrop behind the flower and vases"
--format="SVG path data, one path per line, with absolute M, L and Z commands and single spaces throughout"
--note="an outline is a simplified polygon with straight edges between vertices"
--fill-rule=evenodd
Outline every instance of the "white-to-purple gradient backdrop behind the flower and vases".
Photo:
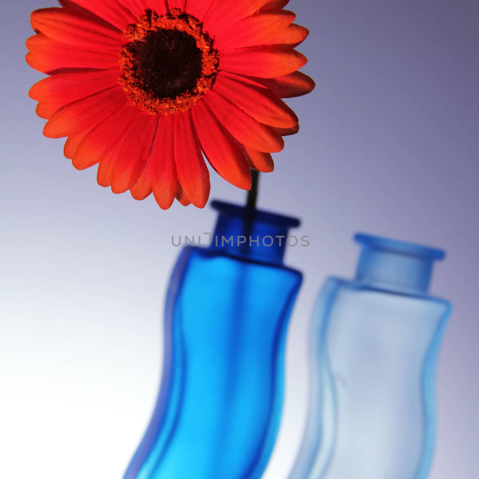
M 24 62 L 31 10 L 2 6 L 0 477 L 121 478 L 159 385 L 171 235 L 209 208 L 162 212 L 76 171 L 42 136 Z M 440 358 L 432 479 L 479 477 L 479 2 L 292 0 L 317 81 L 288 103 L 301 131 L 262 175 L 259 205 L 302 217 L 286 262 L 305 274 L 287 344 L 279 440 L 287 476 L 305 420 L 309 314 L 329 274 L 351 277 L 357 230 L 444 247 L 432 292 L 454 313 Z M 212 198 L 244 193 L 212 175 Z M 373 479 L 373 478 L 372 478 Z

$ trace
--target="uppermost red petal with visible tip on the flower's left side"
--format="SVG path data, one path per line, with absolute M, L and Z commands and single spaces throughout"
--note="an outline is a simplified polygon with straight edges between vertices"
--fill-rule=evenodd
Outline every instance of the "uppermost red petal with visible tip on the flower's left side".
M 85 48 L 112 48 L 119 52 L 125 36 L 114 26 L 94 22 L 80 11 L 65 8 L 43 8 L 32 12 L 34 30 L 68 45 Z

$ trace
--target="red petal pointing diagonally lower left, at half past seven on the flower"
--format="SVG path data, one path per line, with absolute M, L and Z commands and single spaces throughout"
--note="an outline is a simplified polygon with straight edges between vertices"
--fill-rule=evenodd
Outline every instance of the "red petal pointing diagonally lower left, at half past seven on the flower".
M 101 123 L 93 127 L 80 142 L 73 156 L 73 166 L 77 170 L 84 170 L 96 165 L 109 147 L 116 147 L 122 138 L 120 133 L 125 130 L 137 114 L 138 109 L 130 106 L 127 102 L 112 111 Z

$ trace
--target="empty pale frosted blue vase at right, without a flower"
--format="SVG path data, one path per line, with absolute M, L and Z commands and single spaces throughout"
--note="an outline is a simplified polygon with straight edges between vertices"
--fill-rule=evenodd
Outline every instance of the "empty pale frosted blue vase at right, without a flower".
M 425 479 L 450 304 L 430 297 L 444 252 L 359 234 L 353 281 L 330 278 L 312 320 L 311 397 L 291 479 Z

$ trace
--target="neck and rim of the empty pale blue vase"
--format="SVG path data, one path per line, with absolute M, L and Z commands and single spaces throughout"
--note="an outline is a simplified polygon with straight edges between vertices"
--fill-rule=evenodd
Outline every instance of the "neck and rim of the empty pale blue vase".
M 433 262 L 444 258 L 444 251 L 425 246 L 358 234 L 362 245 L 356 281 L 388 289 L 427 294 Z

